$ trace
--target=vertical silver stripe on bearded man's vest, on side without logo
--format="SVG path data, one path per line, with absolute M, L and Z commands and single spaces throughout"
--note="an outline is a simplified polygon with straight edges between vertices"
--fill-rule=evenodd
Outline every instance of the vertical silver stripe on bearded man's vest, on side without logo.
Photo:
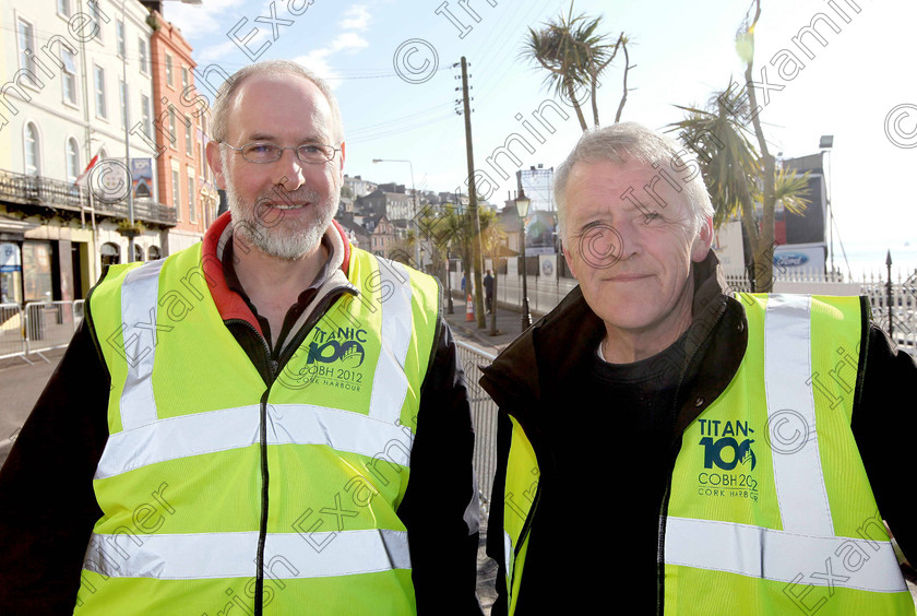
M 156 357 L 156 313 L 159 271 L 165 259 L 131 270 L 121 284 L 121 332 L 128 377 L 121 392 L 121 425 L 131 429 L 156 420 L 153 362 Z

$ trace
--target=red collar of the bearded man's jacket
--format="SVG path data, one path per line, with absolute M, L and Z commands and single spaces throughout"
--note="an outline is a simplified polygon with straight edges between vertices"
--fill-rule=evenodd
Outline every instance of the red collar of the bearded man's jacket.
M 229 319 L 248 321 L 261 335 L 264 335 L 258 319 L 254 318 L 242 296 L 229 288 L 226 284 L 226 277 L 223 275 L 223 247 L 233 239 L 233 232 L 227 228 L 229 222 L 229 212 L 225 212 L 213 222 L 204 235 L 202 247 L 204 275 L 210 284 L 211 295 L 221 318 L 224 321 Z M 332 226 L 325 233 L 337 233 L 341 236 L 344 245 L 344 262 L 341 264 L 341 270 L 347 274 L 350 270 L 350 244 L 347 241 L 347 235 L 337 224 L 337 221 L 332 221 Z

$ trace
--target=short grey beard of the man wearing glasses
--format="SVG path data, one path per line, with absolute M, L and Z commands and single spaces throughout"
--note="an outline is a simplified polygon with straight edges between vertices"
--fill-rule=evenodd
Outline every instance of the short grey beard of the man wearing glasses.
M 318 191 L 302 187 L 286 192 L 274 187 L 271 194 L 260 194 L 252 205 L 241 202 L 231 179 L 226 178 L 226 201 L 233 217 L 233 233 L 265 254 L 284 261 L 296 261 L 314 251 L 337 212 L 340 189 L 333 187 L 322 201 Z M 284 220 L 286 210 L 274 209 L 267 203 L 308 202 L 312 216 L 303 220 Z M 298 218 L 298 216 L 297 216 Z

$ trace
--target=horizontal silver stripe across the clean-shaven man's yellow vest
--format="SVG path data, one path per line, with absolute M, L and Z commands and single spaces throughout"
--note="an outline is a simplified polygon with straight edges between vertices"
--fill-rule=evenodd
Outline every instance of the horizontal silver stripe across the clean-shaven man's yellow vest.
M 666 564 L 786 583 L 907 591 L 892 544 L 666 518 Z

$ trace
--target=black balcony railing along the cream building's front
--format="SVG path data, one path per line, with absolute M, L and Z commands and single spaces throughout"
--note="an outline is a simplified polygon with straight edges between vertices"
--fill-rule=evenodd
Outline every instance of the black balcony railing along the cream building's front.
M 39 205 L 70 212 L 90 210 L 90 193 L 85 187 L 41 176 L 26 176 L 0 169 L 0 201 Z M 97 216 L 128 220 L 128 201 L 94 199 Z M 150 199 L 134 199 L 134 220 L 175 226 L 175 209 Z

